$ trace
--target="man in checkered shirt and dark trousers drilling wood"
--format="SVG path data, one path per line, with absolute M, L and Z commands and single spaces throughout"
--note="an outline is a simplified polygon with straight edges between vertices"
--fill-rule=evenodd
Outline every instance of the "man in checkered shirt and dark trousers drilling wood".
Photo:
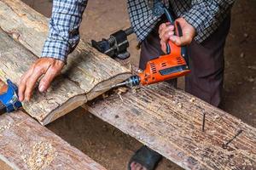
M 191 73 L 186 77 L 186 91 L 218 106 L 224 78 L 224 43 L 230 29 L 230 8 L 235 0 L 162 0 L 177 17 L 183 37 L 173 35 L 174 27 L 165 17 L 152 14 L 154 1 L 128 0 L 131 26 L 141 45 L 140 68 L 148 59 L 166 51 L 166 42 L 178 46 L 189 45 Z M 42 58 L 38 59 L 21 77 L 19 98 L 32 97 L 38 78 L 38 89 L 44 92 L 61 72 L 79 42 L 79 25 L 87 0 L 55 0 L 49 23 L 49 37 L 44 43 Z M 143 146 L 132 156 L 128 165 L 132 170 L 149 170 L 156 167 L 160 155 Z

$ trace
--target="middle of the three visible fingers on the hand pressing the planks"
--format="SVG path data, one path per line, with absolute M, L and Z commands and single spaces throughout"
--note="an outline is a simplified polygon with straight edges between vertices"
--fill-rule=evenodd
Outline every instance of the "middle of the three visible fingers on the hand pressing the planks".
M 44 70 L 42 68 L 35 68 L 33 70 L 32 75 L 26 81 L 26 90 L 25 90 L 25 100 L 29 101 L 32 96 L 32 91 L 38 82 L 39 77 L 44 74 Z

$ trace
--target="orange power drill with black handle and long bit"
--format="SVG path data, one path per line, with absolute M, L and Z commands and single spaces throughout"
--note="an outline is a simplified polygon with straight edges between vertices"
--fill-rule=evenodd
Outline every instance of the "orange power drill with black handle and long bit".
M 158 3 L 158 5 L 159 6 L 156 8 L 157 12 L 159 13 L 161 11 L 166 14 L 167 20 L 175 26 L 175 34 L 181 37 L 183 32 L 178 23 L 174 22 L 168 9 L 162 3 Z M 166 46 L 166 54 L 156 59 L 149 60 L 146 69 L 142 73 L 132 76 L 125 82 L 115 84 L 110 88 L 124 85 L 128 87 L 137 86 L 139 84 L 148 85 L 187 75 L 190 72 L 187 47 L 177 47 L 177 45 L 171 41 L 169 41 Z

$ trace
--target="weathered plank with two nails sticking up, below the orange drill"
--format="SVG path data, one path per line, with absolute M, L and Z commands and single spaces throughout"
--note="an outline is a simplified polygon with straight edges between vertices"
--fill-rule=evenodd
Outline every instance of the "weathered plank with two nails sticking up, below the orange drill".
M 256 129 L 236 117 L 166 83 L 123 94 L 122 99 L 113 94 L 84 107 L 185 169 L 256 169 Z

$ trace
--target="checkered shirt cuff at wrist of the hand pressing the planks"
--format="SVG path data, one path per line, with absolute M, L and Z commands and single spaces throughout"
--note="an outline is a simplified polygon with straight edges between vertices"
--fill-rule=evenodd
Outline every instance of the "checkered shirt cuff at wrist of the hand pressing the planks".
M 44 42 L 44 48 L 41 57 L 49 57 L 60 59 L 67 63 L 67 55 L 69 54 L 69 43 L 61 40 L 47 39 Z

